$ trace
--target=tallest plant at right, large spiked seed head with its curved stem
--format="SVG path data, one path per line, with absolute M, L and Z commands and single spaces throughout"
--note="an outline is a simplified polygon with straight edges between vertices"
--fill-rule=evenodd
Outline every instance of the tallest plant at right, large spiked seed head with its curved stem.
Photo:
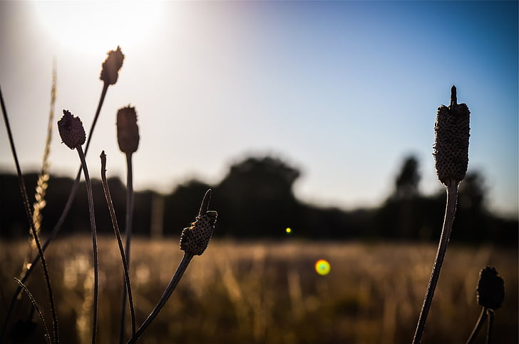
M 420 317 L 418 318 L 413 343 L 420 343 L 421 341 L 427 315 L 433 301 L 434 290 L 436 290 L 436 285 L 440 278 L 441 265 L 447 251 L 448 240 L 451 237 L 454 215 L 456 214 L 458 186 L 465 178 L 468 166 L 470 113 L 471 111 L 468 111 L 466 104 L 458 104 L 456 86 L 452 86 L 451 105 L 448 107 L 440 106 L 436 115 L 436 125 L 434 126 L 436 133 L 436 142 L 434 144 L 436 174 L 441 183 L 446 187 L 447 202 L 438 251 L 427 286 L 426 296 L 423 300 Z

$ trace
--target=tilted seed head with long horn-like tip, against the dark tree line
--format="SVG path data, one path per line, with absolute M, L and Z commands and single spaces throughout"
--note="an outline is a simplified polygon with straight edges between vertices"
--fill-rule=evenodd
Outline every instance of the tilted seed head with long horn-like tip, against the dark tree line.
M 215 223 L 217 218 L 216 211 L 207 211 L 209 207 L 209 200 L 211 197 L 211 190 L 207 190 L 200 212 L 195 218 L 195 222 L 191 223 L 191 226 L 184 228 L 182 236 L 180 236 L 180 250 L 186 253 L 191 253 L 195 256 L 200 256 L 204 253 L 207 245 L 212 236 L 212 232 L 215 231 Z

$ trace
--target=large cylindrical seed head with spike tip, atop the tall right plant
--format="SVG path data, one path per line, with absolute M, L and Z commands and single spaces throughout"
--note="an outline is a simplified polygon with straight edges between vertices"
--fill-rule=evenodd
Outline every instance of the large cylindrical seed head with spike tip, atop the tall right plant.
M 448 185 L 449 181 L 460 182 L 465 178 L 468 166 L 470 114 L 467 104 L 457 103 L 456 86 L 452 86 L 451 105 L 438 108 L 434 126 L 436 140 L 433 155 L 436 174 L 444 185 Z

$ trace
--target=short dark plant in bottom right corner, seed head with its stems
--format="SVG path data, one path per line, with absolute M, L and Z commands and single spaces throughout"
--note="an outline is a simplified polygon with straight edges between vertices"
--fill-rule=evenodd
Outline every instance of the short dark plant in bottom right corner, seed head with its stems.
M 505 280 L 498 275 L 495 268 L 487 266 L 479 273 L 478 281 L 478 303 L 482 306 L 481 315 L 479 316 L 476 326 L 467 340 L 467 344 L 476 340 L 479 330 L 488 316 L 488 332 L 486 343 L 492 342 L 494 311 L 501 307 L 505 300 Z

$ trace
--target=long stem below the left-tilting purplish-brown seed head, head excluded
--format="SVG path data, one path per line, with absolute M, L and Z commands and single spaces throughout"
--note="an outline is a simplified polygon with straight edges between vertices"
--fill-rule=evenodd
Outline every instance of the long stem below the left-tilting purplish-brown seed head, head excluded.
M 99 286 L 99 264 L 97 252 L 97 233 L 96 233 L 96 216 L 93 212 L 93 196 L 92 184 L 90 176 L 88 176 L 88 168 L 86 168 L 85 154 L 81 146 L 77 146 L 79 158 L 81 159 L 81 166 L 83 166 L 83 173 L 86 182 L 86 194 L 88 197 L 88 210 L 90 212 L 90 226 L 92 228 L 92 249 L 93 249 L 93 322 L 92 322 L 92 344 L 96 343 L 97 333 L 97 318 L 98 318 L 98 286 Z

